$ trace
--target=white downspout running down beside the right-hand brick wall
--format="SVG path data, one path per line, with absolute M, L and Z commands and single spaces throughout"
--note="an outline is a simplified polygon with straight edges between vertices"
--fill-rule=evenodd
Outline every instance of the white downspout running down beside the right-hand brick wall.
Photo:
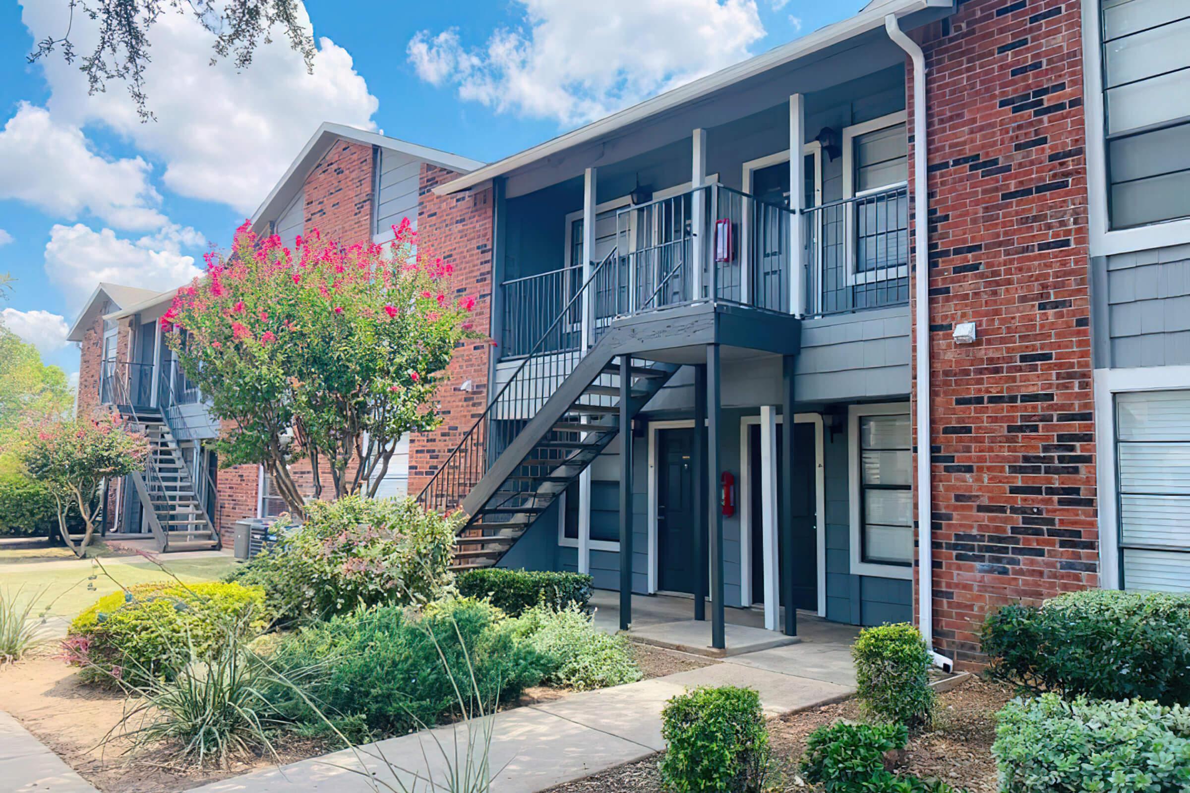
M 934 647 L 933 547 L 929 482 L 929 189 L 926 151 L 926 55 L 904 34 L 896 14 L 884 18 L 889 38 L 913 61 L 914 332 L 917 347 L 917 625 Z M 937 654 L 935 654 L 937 655 Z

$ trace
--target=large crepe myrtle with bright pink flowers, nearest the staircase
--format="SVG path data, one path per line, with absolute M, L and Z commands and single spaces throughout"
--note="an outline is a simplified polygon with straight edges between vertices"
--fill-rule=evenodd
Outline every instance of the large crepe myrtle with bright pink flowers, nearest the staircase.
M 314 498 L 374 497 L 397 441 L 440 422 L 441 372 L 477 336 L 451 264 L 416 251 L 407 219 L 394 233 L 346 245 L 315 229 L 289 248 L 245 222 L 162 317 L 182 371 L 226 421 L 221 465 L 263 465 L 295 517 L 299 460 Z

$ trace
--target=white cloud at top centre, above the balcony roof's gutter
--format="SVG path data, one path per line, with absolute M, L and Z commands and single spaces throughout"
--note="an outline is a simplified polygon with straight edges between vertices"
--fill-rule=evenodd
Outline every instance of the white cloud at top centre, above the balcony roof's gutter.
M 482 48 L 453 30 L 407 46 L 418 75 L 499 112 L 585 121 L 749 56 L 764 36 L 756 0 L 516 0 L 519 30 Z

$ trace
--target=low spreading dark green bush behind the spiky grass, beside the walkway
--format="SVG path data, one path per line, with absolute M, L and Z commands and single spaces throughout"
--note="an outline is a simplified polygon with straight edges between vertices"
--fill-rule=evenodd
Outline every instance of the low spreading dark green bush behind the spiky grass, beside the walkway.
M 456 682 L 475 674 L 469 704 L 515 699 L 545 665 L 515 642 L 507 619 L 474 600 L 436 604 L 420 618 L 380 606 L 314 623 L 281 642 L 269 662 L 344 732 L 393 735 L 457 713 Z M 293 687 L 267 698 L 283 716 L 318 726 L 322 716 Z

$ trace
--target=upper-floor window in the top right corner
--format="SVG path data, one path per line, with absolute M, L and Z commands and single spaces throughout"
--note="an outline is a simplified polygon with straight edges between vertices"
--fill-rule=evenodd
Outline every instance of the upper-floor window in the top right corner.
M 1113 228 L 1190 216 L 1190 4 L 1103 0 Z

